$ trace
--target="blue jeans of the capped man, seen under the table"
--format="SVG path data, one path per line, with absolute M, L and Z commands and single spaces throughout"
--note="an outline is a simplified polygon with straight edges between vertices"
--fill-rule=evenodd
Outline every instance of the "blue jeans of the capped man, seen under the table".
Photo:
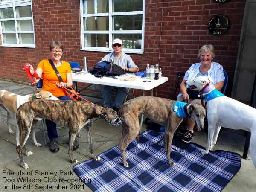
M 113 88 L 118 89 L 114 102 L 111 101 L 111 90 Z M 125 87 L 113 87 L 108 85 L 102 85 L 103 105 L 109 108 L 112 108 L 113 106 L 120 108 L 122 106 L 122 103 L 125 100 L 127 91 L 128 91 L 128 88 L 125 88 Z

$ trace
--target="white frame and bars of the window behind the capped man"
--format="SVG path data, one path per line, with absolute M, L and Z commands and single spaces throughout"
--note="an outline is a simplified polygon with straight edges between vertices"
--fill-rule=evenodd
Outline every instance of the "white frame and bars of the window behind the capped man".
M 122 50 L 126 53 L 138 53 L 143 54 L 144 51 L 144 36 L 145 36 L 145 0 L 143 0 L 142 11 L 132 12 L 112 12 L 112 0 L 108 0 L 108 11 L 107 13 L 94 13 L 94 14 L 83 14 L 83 0 L 80 0 L 80 21 L 81 21 L 81 50 L 83 51 L 98 51 L 98 52 L 111 52 L 112 48 L 112 34 L 141 34 L 141 49 L 128 49 L 123 48 Z M 112 30 L 112 16 L 116 15 L 142 15 L 142 30 Z M 108 16 L 108 27 L 107 31 L 84 31 L 84 17 L 99 17 Z M 108 34 L 109 44 L 108 47 L 85 47 L 84 46 L 84 34 Z

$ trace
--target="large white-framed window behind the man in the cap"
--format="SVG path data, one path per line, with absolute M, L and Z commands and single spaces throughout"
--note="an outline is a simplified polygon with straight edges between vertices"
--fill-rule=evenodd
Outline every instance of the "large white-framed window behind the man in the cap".
M 145 0 L 80 0 L 82 50 L 112 51 L 119 38 L 123 50 L 143 53 Z

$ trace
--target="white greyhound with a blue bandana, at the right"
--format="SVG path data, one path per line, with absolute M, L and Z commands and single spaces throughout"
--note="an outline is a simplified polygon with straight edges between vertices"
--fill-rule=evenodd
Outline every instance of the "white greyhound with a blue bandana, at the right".
M 200 76 L 187 85 L 194 85 L 203 93 L 207 101 L 208 141 L 203 154 L 208 154 L 217 142 L 221 126 L 230 129 L 243 129 L 251 132 L 250 156 L 256 168 L 256 109 L 235 99 L 224 96 L 215 89 L 211 77 Z

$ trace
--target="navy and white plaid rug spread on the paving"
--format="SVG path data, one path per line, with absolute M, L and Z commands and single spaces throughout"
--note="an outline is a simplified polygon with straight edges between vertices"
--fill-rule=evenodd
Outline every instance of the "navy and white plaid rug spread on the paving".
M 145 131 L 128 146 L 127 162 L 122 164 L 118 146 L 100 154 L 101 160 L 87 160 L 73 167 L 91 190 L 98 192 L 219 192 L 239 171 L 241 156 L 228 151 L 201 154 L 201 146 L 184 144 L 174 138 L 169 166 L 163 148 L 163 132 Z

